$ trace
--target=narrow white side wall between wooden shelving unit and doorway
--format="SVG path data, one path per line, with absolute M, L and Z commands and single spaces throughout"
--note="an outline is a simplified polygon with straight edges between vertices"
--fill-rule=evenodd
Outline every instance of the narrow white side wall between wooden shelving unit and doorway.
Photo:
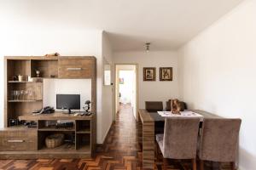
M 102 33 L 102 65 L 108 63 L 111 65 L 111 71 L 113 73 L 113 59 L 112 59 L 112 47 L 108 40 L 108 35 L 105 31 Z M 102 74 L 103 74 L 102 66 Z M 113 75 L 112 75 L 113 76 Z M 113 78 L 112 78 L 113 79 Z M 104 141 L 108 134 L 108 130 L 113 122 L 113 86 L 105 86 L 102 83 L 102 117 L 99 117 L 102 125 L 101 143 Z

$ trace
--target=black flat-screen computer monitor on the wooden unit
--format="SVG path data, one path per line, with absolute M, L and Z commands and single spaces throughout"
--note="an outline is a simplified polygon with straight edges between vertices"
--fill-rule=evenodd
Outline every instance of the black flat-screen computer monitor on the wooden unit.
M 56 94 L 56 108 L 71 110 L 80 110 L 80 94 Z

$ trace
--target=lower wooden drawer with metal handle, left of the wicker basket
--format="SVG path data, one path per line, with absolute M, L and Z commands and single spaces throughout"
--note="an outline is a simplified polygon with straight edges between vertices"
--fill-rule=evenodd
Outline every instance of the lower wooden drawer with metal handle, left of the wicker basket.
M 0 131 L 0 151 L 38 150 L 35 130 Z

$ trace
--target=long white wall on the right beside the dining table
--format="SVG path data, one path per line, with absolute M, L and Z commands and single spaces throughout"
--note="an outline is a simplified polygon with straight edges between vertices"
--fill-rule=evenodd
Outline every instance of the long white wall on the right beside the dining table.
M 190 108 L 240 117 L 239 167 L 256 167 L 256 1 L 248 0 L 180 48 Z

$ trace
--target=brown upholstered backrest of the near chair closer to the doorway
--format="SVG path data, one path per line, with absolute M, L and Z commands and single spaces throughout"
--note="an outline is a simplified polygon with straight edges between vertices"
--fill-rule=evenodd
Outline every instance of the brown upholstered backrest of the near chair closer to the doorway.
M 163 156 L 171 159 L 196 157 L 200 118 L 166 118 L 163 140 Z

